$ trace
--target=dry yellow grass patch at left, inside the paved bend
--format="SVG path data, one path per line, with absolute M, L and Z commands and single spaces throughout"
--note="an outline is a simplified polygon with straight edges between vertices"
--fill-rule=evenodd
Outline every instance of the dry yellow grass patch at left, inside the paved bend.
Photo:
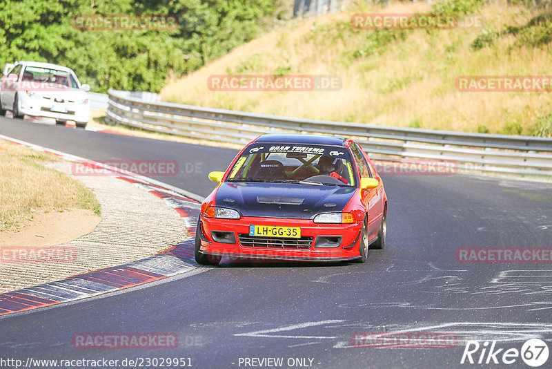
M 32 220 L 37 213 L 90 209 L 99 215 L 99 202 L 90 190 L 41 165 L 57 160 L 55 155 L 0 140 L 0 231 Z

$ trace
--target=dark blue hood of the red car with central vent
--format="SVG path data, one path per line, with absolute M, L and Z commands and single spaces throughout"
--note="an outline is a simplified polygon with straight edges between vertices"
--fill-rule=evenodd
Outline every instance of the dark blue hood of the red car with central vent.
M 342 211 L 354 187 L 295 183 L 223 182 L 217 207 L 235 209 L 243 216 L 310 219 L 316 214 Z

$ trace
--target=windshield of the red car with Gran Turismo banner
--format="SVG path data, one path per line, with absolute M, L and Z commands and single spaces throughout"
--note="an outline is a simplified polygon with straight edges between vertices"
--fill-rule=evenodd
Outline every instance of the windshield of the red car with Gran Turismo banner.
M 310 144 L 251 144 L 239 156 L 227 180 L 355 185 L 347 149 Z

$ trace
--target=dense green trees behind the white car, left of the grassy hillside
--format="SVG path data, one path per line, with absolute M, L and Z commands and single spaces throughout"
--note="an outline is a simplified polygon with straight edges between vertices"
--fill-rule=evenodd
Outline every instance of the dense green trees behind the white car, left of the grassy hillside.
M 159 91 L 255 39 L 283 17 L 284 0 L 0 1 L 0 66 L 16 60 L 69 66 L 92 91 Z M 77 30 L 75 15 L 177 15 L 176 30 Z

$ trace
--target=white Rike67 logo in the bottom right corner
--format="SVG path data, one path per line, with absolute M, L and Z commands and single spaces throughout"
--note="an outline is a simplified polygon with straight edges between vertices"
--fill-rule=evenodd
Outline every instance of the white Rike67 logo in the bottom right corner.
M 477 364 L 513 364 L 524 361 L 528 366 L 542 366 L 549 357 L 548 346 L 542 339 L 529 339 L 523 343 L 521 350 L 517 348 L 496 348 L 496 341 L 467 341 L 460 363 Z

